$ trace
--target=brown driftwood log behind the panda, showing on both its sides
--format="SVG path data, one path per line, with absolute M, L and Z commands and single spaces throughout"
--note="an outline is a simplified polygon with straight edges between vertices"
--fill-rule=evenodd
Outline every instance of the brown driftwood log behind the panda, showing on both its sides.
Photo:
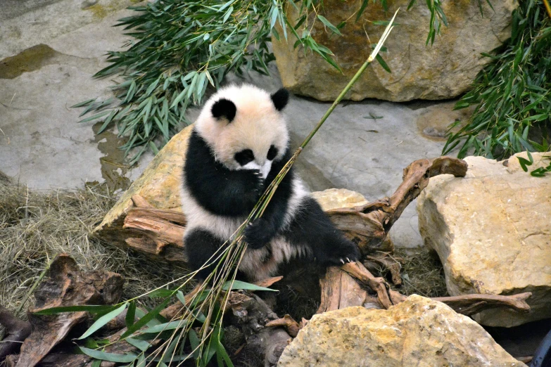
M 405 207 L 429 184 L 431 176 L 464 176 L 466 172 L 467 163 L 452 157 L 416 160 L 404 169 L 403 183 L 391 198 L 359 207 L 329 210 L 327 214 L 367 254 L 381 248 L 388 230 Z M 184 214 L 153 208 L 139 195 L 132 196 L 132 202 L 135 207 L 128 210 L 122 225 L 128 247 L 156 259 L 186 262 L 182 251 L 186 224 Z

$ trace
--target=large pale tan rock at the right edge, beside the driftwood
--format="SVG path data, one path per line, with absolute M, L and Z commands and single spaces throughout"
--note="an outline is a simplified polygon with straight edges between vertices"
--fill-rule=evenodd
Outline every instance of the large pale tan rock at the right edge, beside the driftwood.
M 531 170 L 549 164 L 532 155 Z M 487 326 L 551 317 L 551 176 L 527 174 L 516 156 L 505 162 L 467 157 L 464 179 L 433 177 L 417 201 L 419 231 L 438 252 L 450 295 L 532 292 L 528 314 L 477 314 Z

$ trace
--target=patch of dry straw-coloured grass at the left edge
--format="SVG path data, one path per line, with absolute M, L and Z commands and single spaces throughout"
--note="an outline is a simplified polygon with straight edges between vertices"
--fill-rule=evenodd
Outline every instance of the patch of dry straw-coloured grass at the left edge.
M 91 238 L 89 233 L 115 203 L 102 186 L 76 191 L 28 191 L 0 175 L 0 304 L 18 309 L 53 257 L 72 256 L 84 271 L 120 273 L 123 297 L 134 297 L 177 278 L 184 269 L 153 262 Z M 34 302 L 25 302 L 23 310 Z

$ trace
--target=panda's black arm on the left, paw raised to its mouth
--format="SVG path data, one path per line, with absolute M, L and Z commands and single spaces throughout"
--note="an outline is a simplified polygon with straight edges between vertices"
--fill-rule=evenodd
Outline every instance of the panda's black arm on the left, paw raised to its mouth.
M 210 148 L 195 131 L 189 139 L 184 180 L 201 206 L 209 212 L 226 216 L 243 216 L 251 212 L 263 190 L 258 172 L 232 171 L 216 162 Z

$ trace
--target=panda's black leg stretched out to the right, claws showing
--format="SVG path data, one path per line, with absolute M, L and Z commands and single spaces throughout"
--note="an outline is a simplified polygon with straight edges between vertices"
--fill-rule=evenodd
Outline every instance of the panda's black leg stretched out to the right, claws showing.
M 360 259 L 360 250 L 347 240 L 317 201 L 306 198 L 285 236 L 291 243 L 306 243 L 315 262 L 322 266 L 342 265 Z

